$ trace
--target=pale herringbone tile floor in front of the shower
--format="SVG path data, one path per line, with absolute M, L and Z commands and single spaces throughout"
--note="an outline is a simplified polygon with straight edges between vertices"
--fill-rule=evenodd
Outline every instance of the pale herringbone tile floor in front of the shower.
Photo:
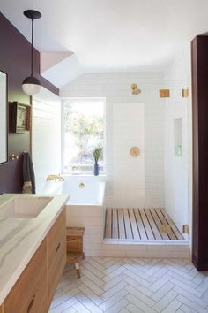
M 87 257 L 66 267 L 49 313 L 208 312 L 208 272 L 188 260 Z

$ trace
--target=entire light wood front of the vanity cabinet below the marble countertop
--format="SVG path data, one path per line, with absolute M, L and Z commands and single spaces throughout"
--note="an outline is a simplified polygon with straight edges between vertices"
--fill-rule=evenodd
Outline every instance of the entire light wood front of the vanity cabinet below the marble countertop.
M 0 306 L 0 313 L 47 313 L 65 263 L 64 209 Z

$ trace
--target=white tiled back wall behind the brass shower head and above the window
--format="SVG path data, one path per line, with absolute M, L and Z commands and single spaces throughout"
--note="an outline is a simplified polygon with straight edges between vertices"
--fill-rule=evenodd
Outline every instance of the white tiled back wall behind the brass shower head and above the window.
M 159 97 L 163 82 L 161 73 L 88 73 L 60 90 L 61 97 L 106 97 L 108 207 L 163 207 L 165 204 L 164 100 Z M 132 83 L 141 88 L 141 95 L 131 95 Z M 123 117 L 122 108 L 129 108 L 127 111 L 130 112 L 132 103 L 144 106 L 141 120 L 144 143 L 140 142 L 140 128 L 137 126 L 139 113 L 137 117 L 126 115 L 120 132 L 120 126 L 115 125 L 115 121 Z M 141 146 L 141 156 L 136 161 L 129 155 L 129 145 L 137 144 Z M 143 171 L 137 164 L 141 161 Z M 141 183 L 143 196 L 140 196 L 138 186 Z

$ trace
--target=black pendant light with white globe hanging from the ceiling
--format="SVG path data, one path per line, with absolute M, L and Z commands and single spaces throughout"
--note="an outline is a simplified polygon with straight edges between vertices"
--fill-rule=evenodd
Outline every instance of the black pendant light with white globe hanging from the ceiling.
M 41 13 L 34 10 L 24 11 L 26 18 L 32 20 L 32 42 L 31 42 L 31 75 L 22 82 L 22 89 L 26 95 L 36 95 L 41 90 L 41 82 L 33 76 L 33 20 L 40 19 Z

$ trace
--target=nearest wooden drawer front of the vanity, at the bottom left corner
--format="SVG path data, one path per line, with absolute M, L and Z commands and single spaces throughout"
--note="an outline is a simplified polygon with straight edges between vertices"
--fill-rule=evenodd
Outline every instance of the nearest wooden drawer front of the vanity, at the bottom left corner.
M 48 312 L 47 242 L 43 240 L 4 301 L 5 313 Z

